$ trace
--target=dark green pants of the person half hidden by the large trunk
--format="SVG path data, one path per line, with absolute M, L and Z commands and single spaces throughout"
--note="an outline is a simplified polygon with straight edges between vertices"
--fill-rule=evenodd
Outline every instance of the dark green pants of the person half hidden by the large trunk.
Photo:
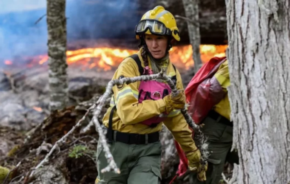
M 229 163 L 239 162 L 237 152 L 231 152 L 233 143 L 233 127 L 225 125 L 219 120 L 206 117 L 204 121 L 202 132 L 209 141 L 209 151 L 211 152 L 208 160 L 208 170 L 206 171 L 206 181 L 201 182 L 197 180 L 196 174 L 193 174 L 194 184 L 218 184 L 224 164 L 226 161 Z

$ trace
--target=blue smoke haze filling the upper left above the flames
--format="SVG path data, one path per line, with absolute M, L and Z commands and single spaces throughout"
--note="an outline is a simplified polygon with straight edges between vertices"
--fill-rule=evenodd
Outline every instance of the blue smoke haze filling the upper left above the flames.
M 35 1 L 35 2 L 34 2 Z M 47 52 L 46 0 L 0 2 L 0 63 Z M 133 39 L 137 0 L 67 0 L 67 39 Z

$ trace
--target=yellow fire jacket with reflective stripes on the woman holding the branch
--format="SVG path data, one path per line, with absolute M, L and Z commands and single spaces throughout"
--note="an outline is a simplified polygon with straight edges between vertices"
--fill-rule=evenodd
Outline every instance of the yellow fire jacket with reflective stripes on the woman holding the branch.
M 142 66 L 144 67 L 144 61 L 140 55 L 140 50 L 137 54 L 141 60 Z M 148 61 L 149 68 L 151 68 L 149 57 Z M 166 74 L 168 76 L 175 75 L 174 68 L 170 61 Z M 118 79 L 121 75 L 124 77 L 134 77 L 140 75 L 138 66 L 132 58 L 129 57 L 122 61 L 116 70 L 113 79 Z M 181 76 L 178 70 L 176 70 L 176 78 L 177 89 L 183 89 Z M 113 87 L 114 94 L 112 95 L 110 108 L 108 108 L 103 118 L 104 126 L 108 127 L 110 111 L 112 107 L 116 105 L 117 110 L 113 114 L 113 130 L 127 133 L 148 134 L 160 131 L 162 129 L 162 123 L 159 123 L 153 128 L 139 123 L 165 112 L 165 103 L 162 99 L 156 101 L 144 100 L 142 103 L 138 103 L 139 85 L 140 82 L 137 81 L 130 84 L 124 84 L 123 86 L 117 87 L 117 85 L 115 85 Z M 189 126 L 180 110 L 171 111 L 163 123 L 168 130 L 172 132 L 174 139 L 180 144 L 184 152 L 194 150 L 195 143 L 191 137 L 192 131 L 189 129 Z

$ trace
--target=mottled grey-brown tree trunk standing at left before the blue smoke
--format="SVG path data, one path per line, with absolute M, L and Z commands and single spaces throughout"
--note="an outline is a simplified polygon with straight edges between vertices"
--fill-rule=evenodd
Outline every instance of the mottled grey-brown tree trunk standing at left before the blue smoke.
M 47 0 L 50 110 L 68 102 L 65 0 Z

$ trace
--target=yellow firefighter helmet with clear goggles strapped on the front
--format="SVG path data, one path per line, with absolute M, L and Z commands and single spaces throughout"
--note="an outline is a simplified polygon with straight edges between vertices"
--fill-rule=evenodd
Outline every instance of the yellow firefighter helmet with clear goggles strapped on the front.
M 140 34 L 145 33 L 171 35 L 175 40 L 180 41 L 175 18 L 163 6 L 156 6 L 146 12 L 136 25 L 135 33 L 137 39 L 140 39 Z

